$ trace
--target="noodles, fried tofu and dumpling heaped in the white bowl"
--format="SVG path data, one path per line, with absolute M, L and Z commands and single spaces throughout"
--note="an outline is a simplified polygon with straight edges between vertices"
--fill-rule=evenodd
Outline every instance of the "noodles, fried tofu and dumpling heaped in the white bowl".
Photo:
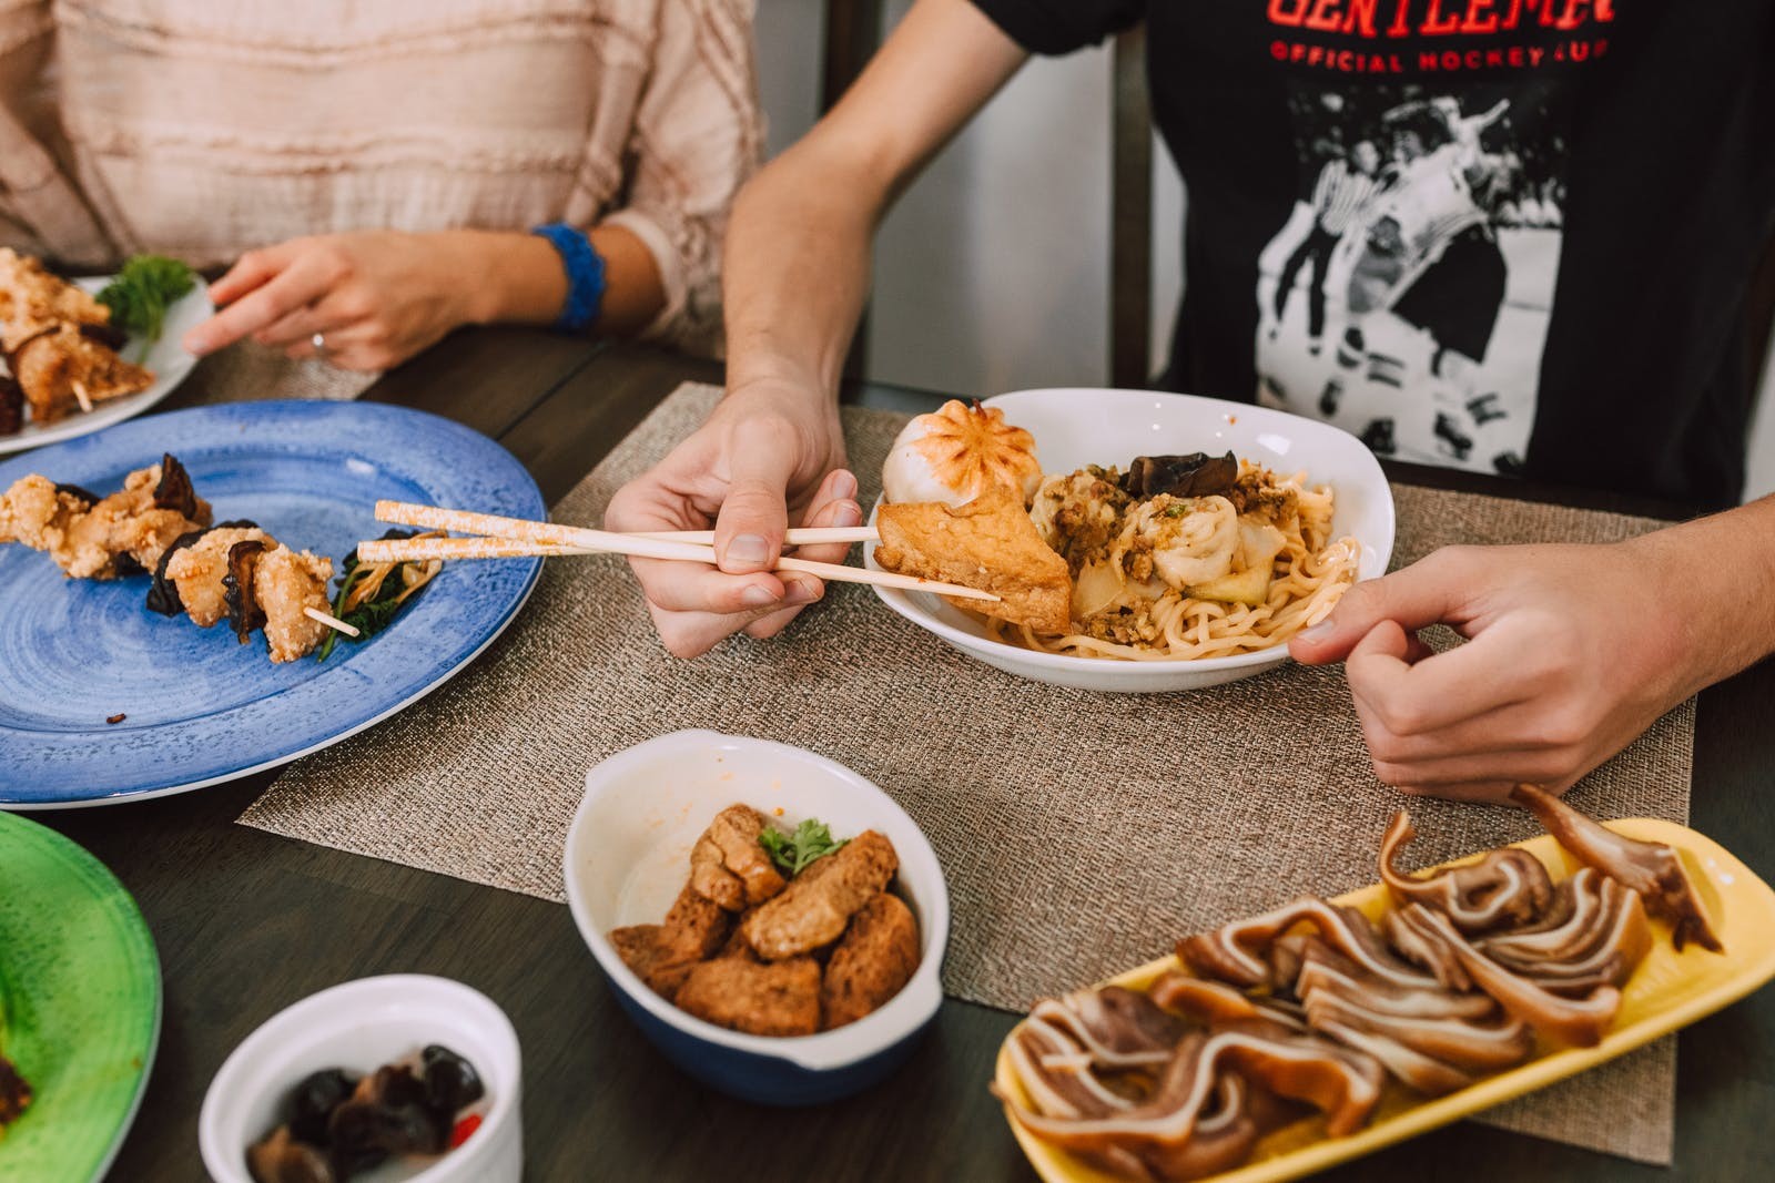
M 948 440 L 919 443 L 934 438 Z M 1322 621 L 1356 580 L 1361 548 L 1331 536 L 1335 495 L 1306 474 L 1232 452 L 1136 456 L 1030 493 L 1022 470 L 989 461 L 1006 450 L 998 435 L 950 443 L 937 474 L 964 474 L 944 481 L 953 497 L 898 502 L 895 488 L 927 493 L 935 477 L 889 482 L 900 452 L 889 459 L 875 562 L 994 592 L 951 603 L 1006 644 L 1131 662 L 1255 653 Z

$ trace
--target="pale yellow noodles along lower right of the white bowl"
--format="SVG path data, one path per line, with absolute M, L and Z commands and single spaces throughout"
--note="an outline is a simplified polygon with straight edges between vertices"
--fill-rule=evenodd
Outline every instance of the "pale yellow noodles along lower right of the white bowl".
M 1312 628 L 1337 607 L 1356 580 L 1361 546 L 1354 537 L 1329 541 L 1331 490 L 1306 488 L 1306 474 L 1276 479 L 1278 490 L 1292 491 L 1298 513 L 1276 521 L 1283 548 L 1274 559 L 1274 575 L 1260 607 L 1198 599 L 1166 589 L 1145 607 L 1145 626 L 1134 642 L 1093 637 L 1088 631 L 1063 635 L 1038 633 L 1026 624 L 980 619 L 987 631 L 1006 644 L 1042 653 L 1069 653 L 1085 658 L 1127 662 L 1189 662 L 1255 653 L 1285 644 Z M 1074 619 L 1074 628 L 1081 621 Z

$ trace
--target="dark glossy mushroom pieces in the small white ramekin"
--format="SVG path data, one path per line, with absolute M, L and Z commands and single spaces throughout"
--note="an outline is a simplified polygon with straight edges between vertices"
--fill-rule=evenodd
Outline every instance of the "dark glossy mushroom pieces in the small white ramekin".
M 247 1171 L 254 1183 L 346 1183 L 389 1158 L 456 1149 L 485 1112 L 474 1064 L 437 1043 L 364 1077 L 323 1068 L 284 1098 L 282 1123 L 247 1148 Z

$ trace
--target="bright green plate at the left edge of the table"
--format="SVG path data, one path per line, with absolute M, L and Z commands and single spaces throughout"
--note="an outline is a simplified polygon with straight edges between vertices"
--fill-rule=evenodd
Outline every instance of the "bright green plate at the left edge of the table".
M 0 812 L 0 1054 L 30 1082 L 0 1179 L 89 1183 L 142 1101 L 160 958 L 130 892 L 66 837 Z

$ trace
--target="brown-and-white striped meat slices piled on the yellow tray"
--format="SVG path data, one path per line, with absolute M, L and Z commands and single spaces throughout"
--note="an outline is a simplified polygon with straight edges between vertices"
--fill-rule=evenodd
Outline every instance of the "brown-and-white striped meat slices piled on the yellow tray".
M 1006 1114 L 1124 1178 L 1200 1178 L 1262 1153 L 1266 1135 L 1308 1110 L 1344 1137 L 1383 1107 L 1596 1046 L 1660 940 L 1647 917 L 1668 926 L 1676 952 L 1720 951 L 1674 848 L 1615 834 L 1534 786 L 1514 798 L 1580 864 L 1574 874 L 1555 883 L 1521 848 L 1406 873 L 1413 828 L 1400 811 L 1379 851 L 1388 910 L 1303 897 L 1180 940 L 1145 990 L 1038 1002 L 1006 1039 L 1014 1087 L 996 1087 Z

